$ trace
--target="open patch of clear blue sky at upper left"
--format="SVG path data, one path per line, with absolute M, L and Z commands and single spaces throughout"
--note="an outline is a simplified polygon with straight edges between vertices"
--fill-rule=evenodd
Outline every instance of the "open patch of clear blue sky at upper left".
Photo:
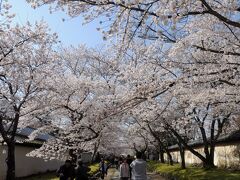
M 53 32 L 58 33 L 63 45 L 86 44 L 89 47 L 95 47 L 103 43 L 101 33 L 96 30 L 99 27 L 97 21 L 82 25 L 83 20 L 80 16 L 70 18 L 61 11 L 50 14 L 48 6 L 33 9 L 25 0 L 8 2 L 13 6 L 11 11 L 16 13 L 15 22 L 24 25 L 26 21 L 35 22 L 43 19 Z M 63 18 L 66 21 L 63 22 Z

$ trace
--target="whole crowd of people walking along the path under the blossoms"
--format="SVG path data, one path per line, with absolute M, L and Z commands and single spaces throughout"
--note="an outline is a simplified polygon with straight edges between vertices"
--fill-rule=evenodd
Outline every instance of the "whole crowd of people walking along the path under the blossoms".
M 126 157 L 115 157 L 107 162 L 101 158 L 99 163 L 100 178 L 104 180 L 107 177 L 109 167 L 114 166 L 119 171 L 120 180 L 147 180 L 147 163 L 143 159 L 143 154 L 137 152 L 135 158 L 127 155 Z M 66 160 L 58 171 L 57 176 L 60 180 L 89 180 L 88 172 L 90 168 L 81 160 L 77 166 L 72 161 Z

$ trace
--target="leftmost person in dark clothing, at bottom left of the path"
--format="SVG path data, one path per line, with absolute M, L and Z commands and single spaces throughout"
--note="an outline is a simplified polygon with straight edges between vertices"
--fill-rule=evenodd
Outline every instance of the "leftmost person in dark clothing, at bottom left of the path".
M 75 170 L 74 167 L 71 164 L 70 160 L 66 160 L 65 164 L 62 165 L 57 170 L 57 176 L 60 180 L 73 180 L 75 176 Z

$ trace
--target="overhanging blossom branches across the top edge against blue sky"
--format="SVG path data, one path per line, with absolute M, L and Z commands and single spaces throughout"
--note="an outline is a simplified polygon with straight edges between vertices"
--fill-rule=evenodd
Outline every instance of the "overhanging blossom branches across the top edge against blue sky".
M 86 22 L 99 19 L 104 37 L 118 34 L 128 42 L 135 37 L 174 43 L 182 37 L 182 29 L 195 17 L 214 17 L 226 26 L 240 28 L 237 0 L 181 1 L 115 1 L 115 0 L 27 0 L 36 8 L 51 5 L 51 11 L 63 10 L 71 17 L 82 15 Z

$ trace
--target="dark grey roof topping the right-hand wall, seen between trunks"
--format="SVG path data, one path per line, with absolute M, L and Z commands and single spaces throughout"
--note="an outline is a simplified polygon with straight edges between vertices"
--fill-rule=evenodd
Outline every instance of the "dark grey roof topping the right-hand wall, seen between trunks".
M 240 130 L 231 132 L 230 134 L 222 135 L 218 138 L 216 144 L 228 144 L 228 143 L 235 143 L 240 141 Z M 190 141 L 188 143 L 189 146 L 191 147 L 200 147 L 203 146 L 203 141 L 201 139 L 195 140 L 195 141 Z M 179 147 L 177 144 L 170 146 L 168 149 L 169 150 L 177 150 Z

